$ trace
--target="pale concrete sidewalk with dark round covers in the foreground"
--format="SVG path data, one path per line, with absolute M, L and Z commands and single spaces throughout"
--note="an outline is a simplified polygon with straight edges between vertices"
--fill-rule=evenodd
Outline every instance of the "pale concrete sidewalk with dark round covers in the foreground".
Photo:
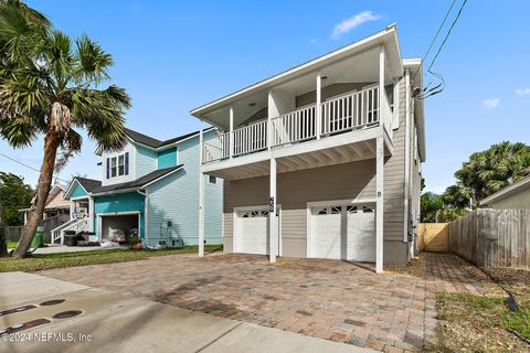
M 53 299 L 65 301 L 40 306 Z M 0 315 L 0 331 L 35 319 L 51 322 L 10 336 L 25 342 L 3 338 L 0 352 L 373 352 L 43 276 L 0 274 L 0 311 L 22 306 L 35 308 Z M 67 310 L 82 313 L 53 318 Z

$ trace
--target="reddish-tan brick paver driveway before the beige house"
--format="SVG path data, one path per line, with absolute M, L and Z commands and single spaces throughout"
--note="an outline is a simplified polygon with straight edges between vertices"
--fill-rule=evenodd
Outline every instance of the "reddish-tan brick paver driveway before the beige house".
M 423 274 L 338 260 L 248 255 L 176 255 L 42 271 L 67 281 L 141 296 L 234 320 L 377 350 L 438 344 L 435 291 L 480 286 L 451 255 L 427 254 Z

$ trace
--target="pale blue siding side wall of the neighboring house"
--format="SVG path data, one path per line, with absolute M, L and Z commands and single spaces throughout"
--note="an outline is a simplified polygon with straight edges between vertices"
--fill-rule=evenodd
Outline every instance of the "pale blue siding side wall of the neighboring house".
M 208 135 L 210 137 L 211 133 Z M 206 138 L 208 138 L 206 137 Z M 148 186 L 149 245 L 160 238 L 182 238 L 186 245 L 197 245 L 199 238 L 199 137 L 179 145 L 179 163 L 184 167 L 176 173 Z M 222 244 L 222 180 L 211 184 L 205 178 L 205 240 Z M 167 227 L 167 221 L 172 222 Z

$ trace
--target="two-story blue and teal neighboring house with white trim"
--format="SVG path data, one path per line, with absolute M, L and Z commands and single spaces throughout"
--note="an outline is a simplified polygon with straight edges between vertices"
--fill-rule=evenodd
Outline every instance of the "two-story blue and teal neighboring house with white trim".
M 213 129 L 204 138 L 215 136 Z M 144 246 L 197 245 L 199 229 L 200 132 L 167 141 L 127 129 L 119 152 L 98 151 L 102 181 L 74 178 L 65 192 L 72 221 L 61 231 L 138 231 Z M 222 244 L 223 181 L 204 181 L 205 244 Z M 77 218 L 77 220 L 75 220 Z

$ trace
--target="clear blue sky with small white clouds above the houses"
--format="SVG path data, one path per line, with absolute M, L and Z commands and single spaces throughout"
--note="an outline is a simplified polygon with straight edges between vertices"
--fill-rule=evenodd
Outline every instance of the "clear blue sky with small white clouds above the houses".
M 112 76 L 132 97 L 127 125 L 167 139 L 201 127 L 189 115 L 191 108 L 394 22 L 403 56 L 422 56 L 451 1 L 28 3 L 59 29 L 85 32 L 113 54 Z M 470 0 L 466 6 L 434 66 L 446 88 L 425 100 L 427 190 L 442 192 L 452 184 L 453 173 L 474 151 L 502 140 L 530 142 L 528 13 L 530 2 L 522 0 Z M 426 83 L 431 79 L 425 76 Z M 83 152 L 59 176 L 99 178 L 94 149 L 85 139 Z M 39 168 L 42 139 L 23 150 L 0 141 L 0 152 Z M 3 157 L 0 170 L 36 183 L 36 172 Z

